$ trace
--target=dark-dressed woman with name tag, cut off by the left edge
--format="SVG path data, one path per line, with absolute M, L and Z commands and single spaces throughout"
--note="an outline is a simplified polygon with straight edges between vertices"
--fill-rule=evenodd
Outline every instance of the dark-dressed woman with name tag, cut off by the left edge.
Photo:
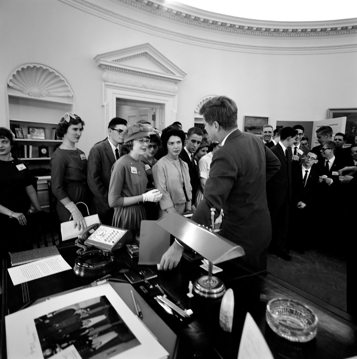
M 7 226 L 9 217 L 16 218 L 20 225 L 26 225 L 25 214 L 29 211 L 30 203 L 36 211 L 41 211 L 27 165 L 11 156 L 14 145 L 13 132 L 0 127 L 0 223 L 6 223 Z M 2 237 L 6 238 L 6 234 L 3 233 Z

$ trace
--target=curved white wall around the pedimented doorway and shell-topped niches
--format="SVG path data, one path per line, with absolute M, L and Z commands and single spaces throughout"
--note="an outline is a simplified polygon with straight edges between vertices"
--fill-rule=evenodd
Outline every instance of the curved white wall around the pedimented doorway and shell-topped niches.
M 101 0 L 104 1 L 104 0 Z M 121 4 L 122 13 L 148 19 L 145 13 Z M 187 76 L 178 84 L 177 120 L 187 130 L 193 124 L 198 101 L 210 94 L 224 94 L 238 104 L 238 125 L 243 116 L 268 116 L 276 121 L 312 121 L 327 116 L 328 108 L 357 107 L 357 52 L 291 55 L 219 50 L 145 33 L 123 26 L 61 1 L 5 0 L 0 22 L 0 126 L 5 118 L 6 80 L 15 67 L 25 62 L 39 62 L 60 71 L 69 80 L 76 95 L 76 113 L 86 122 L 79 147 L 87 154 L 103 138 L 103 71 L 94 57 L 99 53 L 150 43 Z M 150 17 L 151 20 L 152 17 Z M 157 26 L 168 26 L 158 20 Z M 203 29 L 173 24 L 173 29 L 203 36 Z M 207 33 L 207 38 L 267 46 L 325 46 L 338 41 L 357 42 L 355 37 L 316 39 L 238 38 L 232 34 Z M 168 123 L 169 124 L 169 123 Z

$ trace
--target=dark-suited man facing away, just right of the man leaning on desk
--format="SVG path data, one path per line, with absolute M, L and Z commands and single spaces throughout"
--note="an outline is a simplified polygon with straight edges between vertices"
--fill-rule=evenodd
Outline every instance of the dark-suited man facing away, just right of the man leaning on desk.
M 267 181 L 268 208 L 272 221 L 272 241 L 269 249 L 277 256 L 291 261 L 288 255 L 287 236 L 289 228 L 289 206 L 291 200 L 291 165 L 290 147 L 296 139 L 296 130 L 284 127 L 280 133 L 280 141 L 272 147 L 272 152 L 280 160 L 281 167 Z

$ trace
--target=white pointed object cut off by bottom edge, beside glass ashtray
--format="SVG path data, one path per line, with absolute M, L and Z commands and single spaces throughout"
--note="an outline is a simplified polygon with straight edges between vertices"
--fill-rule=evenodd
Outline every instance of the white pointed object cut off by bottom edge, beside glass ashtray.
M 238 359 L 274 359 L 262 332 L 248 312 L 240 339 Z

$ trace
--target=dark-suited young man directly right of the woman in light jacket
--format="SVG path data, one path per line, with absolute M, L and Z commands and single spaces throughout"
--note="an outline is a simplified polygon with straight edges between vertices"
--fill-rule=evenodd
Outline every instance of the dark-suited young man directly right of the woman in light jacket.
M 202 138 L 203 131 L 199 127 L 191 127 L 191 129 L 188 129 L 186 144 L 179 154 L 179 158 L 188 164 L 188 172 L 192 186 L 192 203 L 196 202 L 196 193 L 199 186 L 198 162 L 197 159 L 194 158 L 194 154 L 201 144 Z

